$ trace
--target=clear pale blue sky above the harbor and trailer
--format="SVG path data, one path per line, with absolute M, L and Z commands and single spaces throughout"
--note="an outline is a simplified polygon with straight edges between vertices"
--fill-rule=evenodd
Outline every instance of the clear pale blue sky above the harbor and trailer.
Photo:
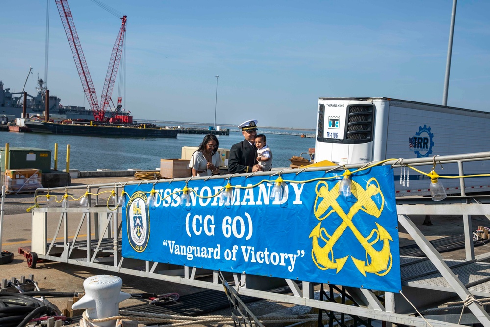
M 442 103 L 452 0 L 101 0 L 128 16 L 123 107 L 135 119 L 315 128 L 319 97 Z M 121 21 L 69 2 L 102 93 Z M 490 111 L 490 1 L 459 1 L 448 105 Z M 0 80 L 35 94 L 44 77 L 46 1 L 2 3 Z M 48 88 L 64 105 L 84 94 L 54 0 Z M 121 70 L 120 70 L 121 71 Z M 117 85 L 113 99 L 117 99 Z M 88 106 L 85 100 L 85 106 Z

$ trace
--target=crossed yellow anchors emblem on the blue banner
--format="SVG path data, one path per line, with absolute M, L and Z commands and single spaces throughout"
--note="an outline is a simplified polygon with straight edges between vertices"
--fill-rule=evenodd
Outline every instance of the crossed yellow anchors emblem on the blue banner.
M 320 222 L 317 226 L 315 226 L 309 236 L 309 238 L 312 238 L 313 243 L 313 262 L 322 270 L 336 269 L 338 273 L 349 258 L 349 255 L 343 258 L 335 258 L 333 247 L 342 236 L 345 229 L 349 227 L 356 239 L 366 250 L 366 261 L 350 256 L 357 269 L 364 276 L 366 276 L 366 272 L 375 273 L 379 276 L 388 274 L 392 267 L 392 254 L 390 252 L 389 241 L 393 241 L 388 231 L 383 228 L 383 226 L 375 223 L 377 228 L 374 228 L 368 237 L 365 237 L 352 222 L 352 218 L 359 210 L 362 210 L 376 218 L 380 217 L 385 200 L 383 193 L 380 191 L 379 183 L 375 178 L 371 178 L 366 183 L 366 189 L 364 189 L 361 185 L 355 181 L 352 181 L 351 191 L 352 195 L 357 199 L 357 202 L 350 207 L 348 213 L 345 213 L 339 203 L 337 203 L 337 197 L 339 196 L 339 184 L 340 182 L 335 184 L 335 186 L 330 190 L 328 189 L 328 184 L 325 181 L 320 181 L 316 185 L 315 192 L 317 196 L 315 199 L 314 212 L 315 217 L 317 217 Z M 379 208 L 372 199 L 372 197 L 377 194 L 380 195 L 382 200 Z M 331 210 L 327 212 L 329 208 L 331 208 Z M 327 230 L 324 227 L 321 227 L 321 221 L 327 218 L 333 212 L 336 212 L 339 217 L 342 218 L 342 223 L 337 227 L 332 235 L 329 235 Z M 376 238 L 369 241 L 373 238 L 374 234 L 377 234 Z M 319 245 L 319 238 L 326 243 L 325 246 L 321 247 Z M 377 243 L 378 241 L 383 242 L 383 247 L 379 251 L 373 247 L 373 244 Z

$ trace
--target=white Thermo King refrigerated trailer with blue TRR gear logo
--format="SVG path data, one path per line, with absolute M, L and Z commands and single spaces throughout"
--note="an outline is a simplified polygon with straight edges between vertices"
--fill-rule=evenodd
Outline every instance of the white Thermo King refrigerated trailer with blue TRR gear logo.
M 384 97 L 319 98 L 317 118 L 315 162 L 342 165 L 490 151 L 490 113 L 484 111 Z M 457 163 L 436 172 L 459 176 Z M 464 173 L 490 173 L 490 162 L 466 163 Z M 406 170 L 395 170 L 397 196 L 430 194 L 427 176 L 410 170 L 406 178 Z M 442 182 L 448 194 L 461 192 L 459 179 Z M 489 185 L 489 178 L 465 178 L 466 192 L 490 191 Z

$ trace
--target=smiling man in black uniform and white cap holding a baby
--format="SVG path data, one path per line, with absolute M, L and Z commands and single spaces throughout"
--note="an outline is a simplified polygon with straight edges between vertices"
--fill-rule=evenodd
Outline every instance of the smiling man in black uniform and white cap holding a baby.
M 238 126 L 245 137 L 240 143 L 231 146 L 228 170 L 230 173 L 251 173 L 262 171 L 257 164 L 257 148 L 255 136 L 257 136 L 257 120 L 247 120 Z

